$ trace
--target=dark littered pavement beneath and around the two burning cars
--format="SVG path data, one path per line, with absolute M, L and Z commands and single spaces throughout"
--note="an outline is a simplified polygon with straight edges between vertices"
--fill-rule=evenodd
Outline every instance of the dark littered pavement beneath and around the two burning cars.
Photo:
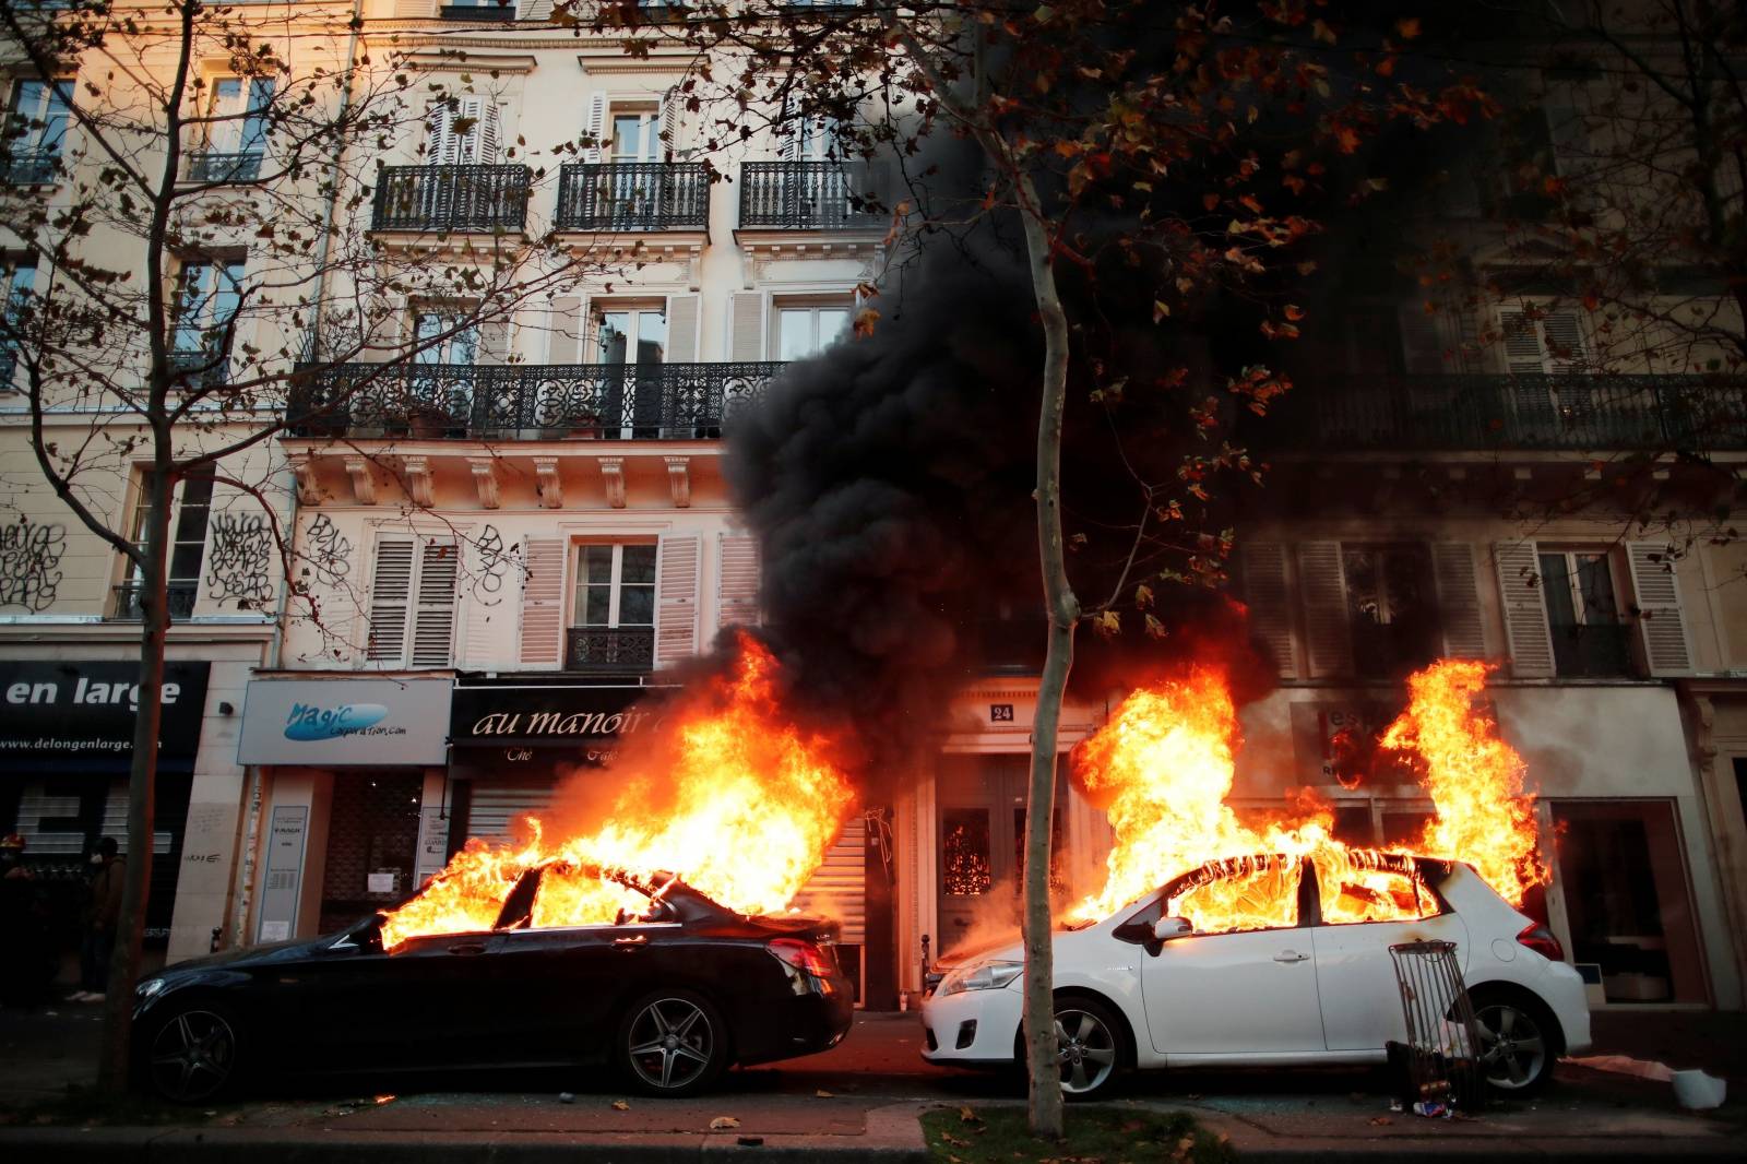
M 89 1064 L 94 1017 L 0 1015 L 0 1106 L 40 1105 Z M 1599 1014 L 1597 1050 L 1661 1057 L 1730 1077 L 1710 1115 L 1675 1108 L 1667 1084 L 1564 1066 L 1536 1103 L 1469 1120 L 1387 1110 L 1377 1071 L 1197 1071 L 1130 1080 L 1122 1106 L 1188 1110 L 1242 1157 L 1298 1161 L 1331 1152 L 1364 1161 L 1490 1161 L 1740 1155 L 1747 1015 Z M 1017 1103 L 1010 1080 L 928 1066 L 912 1014 L 867 1014 L 835 1050 L 734 1071 L 716 1094 L 657 1101 L 610 1078 L 468 1078 L 381 1096 L 356 1091 L 260 1098 L 173 1113 L 159 1126 L 0 1127 L 0 1154 L 35 1161 L 697 1161 L 722 1154 L 788 1161 L 924 1161 L 919 1115 L 931 1106 Z M 405 1080 L 398 1080 L 405 1082 Z M 573 1101 L 557 1087 L 580 1087 Z M 624 1106 L 617 1106 L 622 1103 Z M 737 1126 L 711 1129 L 728 1117 Z M 1071 1152 L 1071 1148 L 1069 1148 Z

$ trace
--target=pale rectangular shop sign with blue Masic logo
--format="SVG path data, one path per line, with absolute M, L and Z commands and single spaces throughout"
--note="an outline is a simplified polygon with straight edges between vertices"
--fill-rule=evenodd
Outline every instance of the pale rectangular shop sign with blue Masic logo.
M 449 680 L 252 680 L 238 764 L 444 764 Z

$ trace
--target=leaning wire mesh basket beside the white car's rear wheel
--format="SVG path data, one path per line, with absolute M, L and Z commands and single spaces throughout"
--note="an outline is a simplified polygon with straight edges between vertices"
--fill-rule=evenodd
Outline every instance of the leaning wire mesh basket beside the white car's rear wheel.
M 1403 1106 L 1422 1113 L 1436 1105 L 1478 1110 L 1480 1031 L 1455 942 L 1403 942 L 1391 946 L 1389 956 L 1396 963 L 1408 1036 L 1406 1043 L 1387 1047 Z

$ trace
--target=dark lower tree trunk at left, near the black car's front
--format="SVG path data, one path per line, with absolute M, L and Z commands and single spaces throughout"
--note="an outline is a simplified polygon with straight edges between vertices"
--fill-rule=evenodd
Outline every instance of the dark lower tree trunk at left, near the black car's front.
M 128 1087 L 133 986 L 140 977 L 145 897 L 152 884 L 157 736 L 164 713 L 164 638 L 169 627 L 169 500 L 175 482 L 159 467 L 145 475 L 142 488 L 145 565 L 138 591 L 140 710 L 133 727 L 133 771 L 128 778 L 128 870 L 122 877 L 121 918 L 115 919 L 115 946 L 103 998 L 103 1045 L 98 1056 L 98 1087 L 112 1094 Z

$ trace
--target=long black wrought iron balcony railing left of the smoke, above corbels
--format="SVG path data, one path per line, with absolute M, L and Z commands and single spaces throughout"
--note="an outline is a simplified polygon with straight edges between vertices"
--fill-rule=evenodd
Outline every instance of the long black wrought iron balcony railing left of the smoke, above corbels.
M 781 364 L 316 364 L 288 400 L 295 435 L 713 440 Z

